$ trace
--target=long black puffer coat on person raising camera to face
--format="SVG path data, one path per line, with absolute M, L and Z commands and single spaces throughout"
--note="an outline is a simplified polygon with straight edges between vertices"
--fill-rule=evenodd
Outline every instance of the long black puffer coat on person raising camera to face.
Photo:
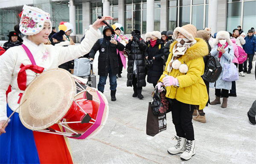
M 135 41 L 129 40 L 129 43 L 126 44 L 125 49 L 129 50 L 128 55 L 128 68 L 127 68 L 127 86 L 132 86 L 132 79 L 134 75 L 134 60 L 137 66 L 137 87 L 146 86 L 146 74 L 145 74 L 145 55 L 144 51 L 147 48 L 145 41 L 139 40 Z

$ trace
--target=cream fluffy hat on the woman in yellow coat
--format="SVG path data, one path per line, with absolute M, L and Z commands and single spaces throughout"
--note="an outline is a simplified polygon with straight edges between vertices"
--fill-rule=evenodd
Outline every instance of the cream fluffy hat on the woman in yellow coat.
M 187 24 L 182 27 L 176 27 L 176 29 L 173 32 L 173 36 L 175 37 L 176 40 L 179 32 L 189 40 L 194 41 L 197 33 L 197 29 L 192 24 Z

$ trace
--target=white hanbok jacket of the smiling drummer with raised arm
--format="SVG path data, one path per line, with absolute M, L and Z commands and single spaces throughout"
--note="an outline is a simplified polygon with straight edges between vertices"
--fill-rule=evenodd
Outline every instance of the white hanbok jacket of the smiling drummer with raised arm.
M 67 61 L 79 58 L 84 54 L 90 52 L 94 43 L 98 39 L 97 30 L 90 28 L 86 32 L 86 36 L 80 45 L 70 45 L 70 46 L 52 46 L 36 45 L 24 38 L 23 44 L 28 47 L 32 53 L 35 63 L 38 66 L 44 67 L 45 70 L 58 68 L 59 65 Z M 8 105 L 12 110 L 15 110 L 19 104 L 17 104 L 21 91 L 17 84 L 17 75 L 20 71 L 20 65 L 30 65 L 32 64 L 29 60 L 26 52 L 21 46 L 15 46 L 8 49 L 3 55 L 0 56 L 0 121 L 7 120 L 6 115 L 6 90 L 11 84 L 12 92 L 8 94 Z M 26 86 L 35 78 L 35 72 L 30 69 L 26 69 L 27 81 Z M 18 112 L 18 111 L 17 111 Z

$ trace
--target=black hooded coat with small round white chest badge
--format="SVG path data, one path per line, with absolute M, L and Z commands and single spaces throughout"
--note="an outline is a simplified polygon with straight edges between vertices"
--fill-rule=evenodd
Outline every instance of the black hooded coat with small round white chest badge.
M 94 59 L 94 55 L 99 51 L 98 75 L 101 76 L 108 76 L 109 65 L 111 66 L 112 75 L 118 74 L 118 57 L 116 49 L 119 51 L 125 49 L 125 46 L 118 41 L 117 45 L 110 43 L 111 38 L 105 35 L 107 29 L 109 29 L 108 26 L 106 26 L 102 32 L 104 36 L 102 44 L 100 45 L 100 40 L 102 40 L 102 38 L 98 39 L 89 53 L 89 58 Z M 115 33 L 112 32 L 112 34 Z

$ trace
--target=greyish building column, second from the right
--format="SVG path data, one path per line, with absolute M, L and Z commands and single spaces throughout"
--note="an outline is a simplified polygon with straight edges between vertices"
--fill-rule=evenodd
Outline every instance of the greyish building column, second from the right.
M 168 31 L 168 0 L 161 0 L 161 12 L 160 12 L 160 32 Z

